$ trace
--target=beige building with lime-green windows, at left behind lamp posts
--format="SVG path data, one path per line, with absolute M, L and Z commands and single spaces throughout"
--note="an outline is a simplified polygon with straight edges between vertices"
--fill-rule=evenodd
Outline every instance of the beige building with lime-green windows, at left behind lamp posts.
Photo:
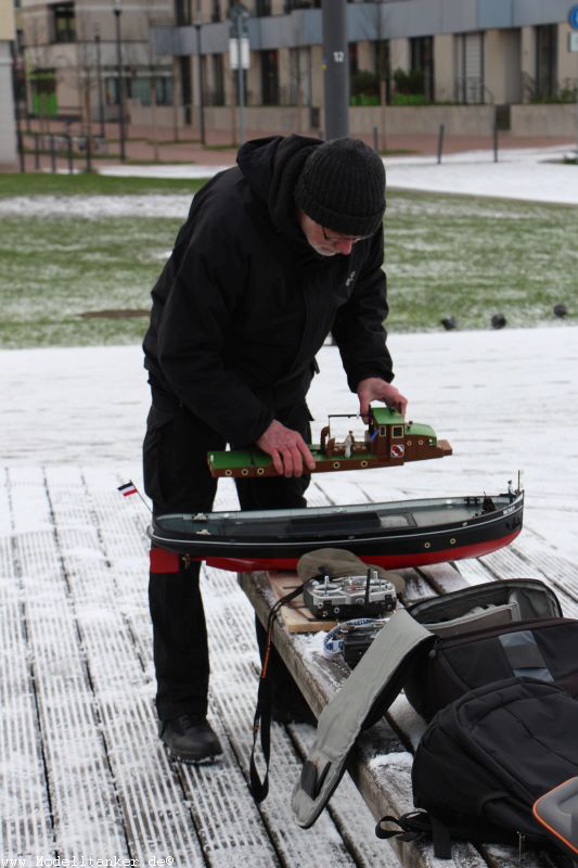
M 151 33 L 175 21 L 170 0 L 20 0 L 27 111 L 92 125 L 130 104 L 172 105 L 172 59 Z M 123 93 L 120 94 L 120 88 Z

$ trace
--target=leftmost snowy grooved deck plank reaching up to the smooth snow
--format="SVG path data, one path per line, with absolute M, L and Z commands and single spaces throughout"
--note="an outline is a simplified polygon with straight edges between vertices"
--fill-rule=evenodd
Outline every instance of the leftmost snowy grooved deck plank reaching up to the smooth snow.
M 54 845 L 36 856 L 74 853 L 127 857 L 94 695 L 85 665 L 73 601 L 66 588 L 42 474 L 10 471 L 16 551 L 35 664 Z M 87 786 L 99 781 L 98 787 Z

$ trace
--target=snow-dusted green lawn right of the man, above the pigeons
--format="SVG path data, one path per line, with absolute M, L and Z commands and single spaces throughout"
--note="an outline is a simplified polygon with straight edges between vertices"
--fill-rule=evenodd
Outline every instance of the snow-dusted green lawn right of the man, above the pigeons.
M 551 322 L 566 303 L 578 319 L 576 208 L 395 191 L 386 214 L 386 271 L 395 331 Z

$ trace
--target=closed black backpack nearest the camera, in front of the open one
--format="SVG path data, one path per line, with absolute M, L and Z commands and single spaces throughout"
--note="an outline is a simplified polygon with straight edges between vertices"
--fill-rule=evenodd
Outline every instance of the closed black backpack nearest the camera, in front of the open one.
M 554 842 L 571 859 L 578 856 L 578 799 L 571 813 L 562 804 L 549 824 L 534 808 L 573 778 L 578 781 L 578 702 L 551 682 L 493 681 L 435 715 L 412 767 L 413 802 L 422 810 L 384 817 L 376 833 L 425 833 L 438 858 L 450 858 L 451 839 L 525 839 Z

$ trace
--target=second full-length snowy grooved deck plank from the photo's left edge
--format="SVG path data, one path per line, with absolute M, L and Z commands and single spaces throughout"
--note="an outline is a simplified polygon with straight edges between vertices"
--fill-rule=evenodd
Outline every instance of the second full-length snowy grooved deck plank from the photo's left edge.
M 49 469 L 47 481 L 131 858 L 143 865 L 152 857 L 205 865 L 191 810 L 156 737 L 152 685 L 126 629 L 119 577 L 108 558 L 94 492 L 74 468 Z M 170 824 L 164 821 L 167 804 Z

